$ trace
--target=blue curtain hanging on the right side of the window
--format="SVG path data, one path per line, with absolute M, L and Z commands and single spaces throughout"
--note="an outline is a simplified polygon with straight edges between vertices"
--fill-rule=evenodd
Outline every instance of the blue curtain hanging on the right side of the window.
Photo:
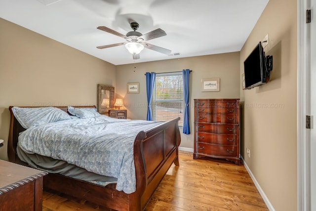
M 185 103 L 184 116 L 183 116 L 183 133 L 190 134 L 190 122 L 189 122 L 189 78 L 190 70 L 186 69 L 182 71 L 183 77 L 183 99 Z

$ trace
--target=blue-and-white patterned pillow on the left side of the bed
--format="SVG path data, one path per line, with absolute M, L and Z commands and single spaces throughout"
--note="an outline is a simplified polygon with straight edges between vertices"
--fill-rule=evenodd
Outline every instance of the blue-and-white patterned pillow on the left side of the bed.
M 72 119 L 66 112 L 55 107 L 13 107 L 12 112 L 21 126 L 25 129 L 47 123 Z

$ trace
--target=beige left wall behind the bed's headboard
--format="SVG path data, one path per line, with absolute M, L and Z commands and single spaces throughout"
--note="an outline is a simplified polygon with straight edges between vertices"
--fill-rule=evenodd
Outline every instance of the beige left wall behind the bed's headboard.
M 0 159 L 7 160 L 8 107 L 96 105 L 97 84 L 116 67 L 0 18 Z

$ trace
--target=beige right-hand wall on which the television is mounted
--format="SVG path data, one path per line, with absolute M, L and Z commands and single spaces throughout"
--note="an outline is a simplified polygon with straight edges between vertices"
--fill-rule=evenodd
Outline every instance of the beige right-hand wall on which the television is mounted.
M 269 34 L 271 82 L 240 90 L 243 101 L 242 152 L 276 211 L 297 210 L 297 1 L 270 0 L 240 51 L 243 61 Z M 241 84 L 241 83 L 240 83 Z M 241 86 L 241 85 L 240 85 Z

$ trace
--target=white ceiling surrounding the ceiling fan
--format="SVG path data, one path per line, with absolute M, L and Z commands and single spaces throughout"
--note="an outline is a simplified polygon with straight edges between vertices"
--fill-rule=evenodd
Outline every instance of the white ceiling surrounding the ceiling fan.
M 0 0 L 0 17 L 72 46 L 114 65 L 239 51 L 269 0 Z M 133 60 L 121 37 L 98 30 L 106 26 L 123 35 L 157 28 L 166 36 L 147 41 L 172 50 L 165 55 L 144 49 Z M 258 41 L 259 42 L 259 41 Z

